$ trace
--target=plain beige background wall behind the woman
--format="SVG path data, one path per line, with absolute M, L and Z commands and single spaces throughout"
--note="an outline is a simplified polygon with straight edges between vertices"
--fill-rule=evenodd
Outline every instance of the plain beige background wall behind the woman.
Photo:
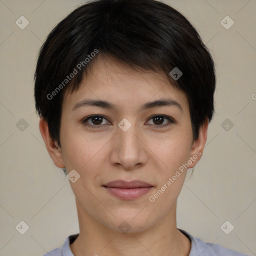
M 53 26 L 81 0 L 0 0 L 0 255 L 42 255 L 78 232 L 74 195 L 38 129 L 36 56 Z M 197 28 L 216 63 L 216 114 L 203 157 L 178 198 L 178 227 L 256 255 L 256 0 L 165 0 Z M 21 30 L 15 21 L 25 16 Z M 220 21 L 234 20 L 225 29 Z M 203 75 L 203 74 L 202 74 Z M 254 97 L 254 99 L 253 99 Z M 23 131 L 16 127 L 21 119 Z M 234 126 L 226 131 L 226 119 Z M 25 221 L 20 234 L 15 226 Z M 228 220 L 234 229 L 225 234 Z

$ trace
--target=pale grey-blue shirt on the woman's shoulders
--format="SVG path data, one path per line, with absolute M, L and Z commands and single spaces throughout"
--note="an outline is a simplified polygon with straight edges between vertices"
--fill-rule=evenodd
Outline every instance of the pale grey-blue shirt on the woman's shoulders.
M 227 249 L 215 243 L 204 242 L 183 229 L 178 228 L 178 230 L 190 239 L 191 249 L 188 256 L 249 256 L 232 249 Z M 66 237 L 62 247 L 53 249 L 43 256 L 74 256 L 69 243 L 72 243 L 78 234 L 79 233 L 69 235 Z

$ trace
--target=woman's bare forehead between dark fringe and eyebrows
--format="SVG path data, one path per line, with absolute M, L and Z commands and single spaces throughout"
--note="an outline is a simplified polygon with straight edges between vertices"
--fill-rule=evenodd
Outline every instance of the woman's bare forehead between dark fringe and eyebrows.
M 182 108 L 188 108 L 184 92 L 176 89 L 165 74 L 149 70 L 134 70 L 129 65 L 110 57 L 98 56 L 84 74 L 79 88 L 65 91 L 62 107 L 71 106 L 84 99 L 101 99 L 116 105 L 133 105 L 157 98 L 171 98 Z

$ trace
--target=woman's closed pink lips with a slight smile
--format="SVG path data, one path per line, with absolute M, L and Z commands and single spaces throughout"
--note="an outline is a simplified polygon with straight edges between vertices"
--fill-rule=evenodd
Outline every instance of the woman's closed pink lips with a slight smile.
M 141 180 L 125 181 L 119 179 L 110 181 L 103 187 L 120 199 L 132 200 L 148 193 L 153 185 Z

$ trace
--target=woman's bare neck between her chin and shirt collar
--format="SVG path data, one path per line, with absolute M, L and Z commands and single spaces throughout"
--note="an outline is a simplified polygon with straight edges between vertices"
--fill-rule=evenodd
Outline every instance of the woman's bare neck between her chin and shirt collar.
M 160 222 L 140 232 L 122 233 L 91 217 L 76 201 L 80 233 L 70 244 L 75 256 L 188 256 L 190 240 L 176 227 L 176 203 Z

